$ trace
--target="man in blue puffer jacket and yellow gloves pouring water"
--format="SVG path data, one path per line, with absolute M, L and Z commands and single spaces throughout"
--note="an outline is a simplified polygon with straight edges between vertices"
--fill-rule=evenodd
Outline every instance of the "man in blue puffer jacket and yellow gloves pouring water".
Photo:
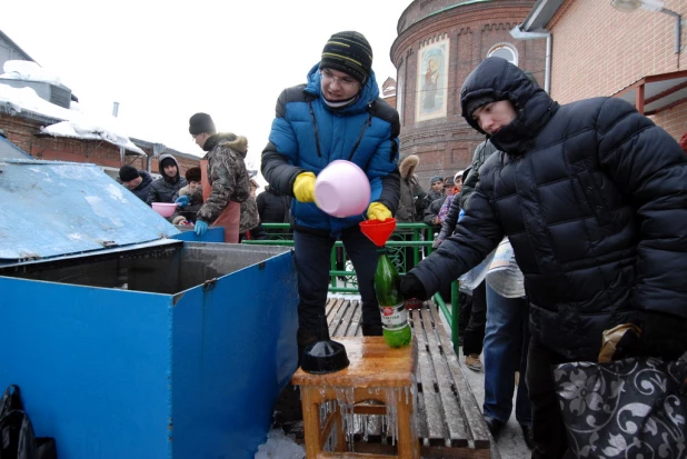
M 358 276 L 362 335 L 381 335 L 375 297 L 376 246 L 361 232 L 365 218 L 385 220 L 400 199 L 398 112 L 379 98 L 372 50 L 355 31 L 331 36 L 308 82 L 286 89 L 277 101 L 269 143 L 262 151 L 262 176 L 279 193 L 293 197 L 293 243 L 298 272 L 299 358 L 318 339 L 325 315 L 329 260 L 341 239 Z M 316 176 L 333 160 L 359 166 L 370 181 L 367 216 L 336 218 L 315 203 Z

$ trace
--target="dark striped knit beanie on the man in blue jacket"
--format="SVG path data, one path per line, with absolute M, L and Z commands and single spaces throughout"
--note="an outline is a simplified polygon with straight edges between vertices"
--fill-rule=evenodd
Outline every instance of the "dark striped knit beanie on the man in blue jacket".
M 372 72 L 372 48 L 362 33 L 335 33 L 325 44 L 320 69 L 342 71 L 365 84 Z

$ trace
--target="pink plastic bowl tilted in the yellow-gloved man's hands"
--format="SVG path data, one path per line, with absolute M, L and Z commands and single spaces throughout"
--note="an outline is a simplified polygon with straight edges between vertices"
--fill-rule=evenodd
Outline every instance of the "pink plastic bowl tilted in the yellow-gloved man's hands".
M 315 181 L 315 202 L 332 217 L 345 218 L 365 212 L 370 197 L 370 181 L 362 169 L 350 161 L 331 161 Z

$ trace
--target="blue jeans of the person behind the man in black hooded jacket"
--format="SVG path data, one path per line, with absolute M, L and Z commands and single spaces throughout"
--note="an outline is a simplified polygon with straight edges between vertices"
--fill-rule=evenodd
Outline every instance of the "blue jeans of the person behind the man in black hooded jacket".
M 524 298 L 505 298 L 487 285 L 487 328 L 484 369 L 486 416 L 506 423 L 512 411 L 515 372 L 520 371 L 516 397 L 516 419 L 530 426 L 532 420 L 527 373 L 529 348 L 529 303 Z

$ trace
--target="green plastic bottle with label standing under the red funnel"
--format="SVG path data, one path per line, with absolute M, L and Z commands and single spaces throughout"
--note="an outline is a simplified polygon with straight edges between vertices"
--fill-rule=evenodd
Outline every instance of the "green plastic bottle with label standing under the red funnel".
M 384 339 L 390 347 L 400 348 L 409 345 L 412 339 L 408 311 L 400 293 L 400 277 L 387 257 L 387 250 L 381 248 L 377 251 L 379 257 L 375 271 L 375 291 L 381 313 Z

